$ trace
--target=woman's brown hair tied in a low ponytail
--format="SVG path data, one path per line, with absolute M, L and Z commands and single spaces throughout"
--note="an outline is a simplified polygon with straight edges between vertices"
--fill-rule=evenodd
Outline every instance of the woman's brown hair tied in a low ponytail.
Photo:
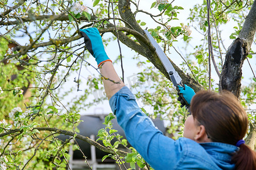
M 229 91 L 221 94 L 197 92 L 191 101 L 191 112 L 204 125 L 213 142 L 236 145 L 247 133 L 247 114 L 237 97 Z M 242 144 L 232 162 L 236 164 L 236 169 L 256 169 L 256 152 Z

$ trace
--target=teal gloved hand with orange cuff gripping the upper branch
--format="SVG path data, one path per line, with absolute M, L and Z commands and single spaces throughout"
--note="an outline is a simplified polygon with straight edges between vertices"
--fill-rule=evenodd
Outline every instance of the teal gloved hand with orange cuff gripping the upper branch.
M 98 67 L 105 61 L 111 61 L 105 52 L 100 32 L 97 28 L 79 30 L 84 37 L 85 47 L 96 59 Z

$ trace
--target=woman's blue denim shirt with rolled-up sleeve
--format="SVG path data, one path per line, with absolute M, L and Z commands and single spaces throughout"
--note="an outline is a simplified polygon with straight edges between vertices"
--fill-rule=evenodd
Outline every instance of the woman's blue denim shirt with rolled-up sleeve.
M 123 87 L 109 100 L 118 124 L 144 160 L 154 169 L 234 169 L 232 153 L 237 147 L 226 143 L 197 143 L 188 138 L 174 141 L 156 129 L 138 107 L 129 88 Z

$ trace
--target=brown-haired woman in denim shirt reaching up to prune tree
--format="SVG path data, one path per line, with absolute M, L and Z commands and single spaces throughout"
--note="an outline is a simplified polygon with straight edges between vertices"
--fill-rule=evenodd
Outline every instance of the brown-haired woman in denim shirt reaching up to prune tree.
M 152 168 L 256 169 L 256 154 L 242 140 L 247 131 L 247 116 L 234 95 L 201 91 L 193 96 L 190 87 L 179 87 L 180 94 L 191 102 L 192 115 L 185 121 L 184 138 L 174 141 L 156 129 L 138 107 L 133 94 L 115 73 L 97 28 L 80 31 L 101 74 L 113 80 L 103 82 L 118 124 Z

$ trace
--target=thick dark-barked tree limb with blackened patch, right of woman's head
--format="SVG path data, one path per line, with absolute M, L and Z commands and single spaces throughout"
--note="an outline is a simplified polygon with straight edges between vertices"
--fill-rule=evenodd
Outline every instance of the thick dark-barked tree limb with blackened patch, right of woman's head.
M 241 92 L 242 65 L 249 54 L 256 31 L 256 1 L 245 19 L 239 37 L 229 46 L 220 78 L 220 92 L 231 91 L 238 98 Z

